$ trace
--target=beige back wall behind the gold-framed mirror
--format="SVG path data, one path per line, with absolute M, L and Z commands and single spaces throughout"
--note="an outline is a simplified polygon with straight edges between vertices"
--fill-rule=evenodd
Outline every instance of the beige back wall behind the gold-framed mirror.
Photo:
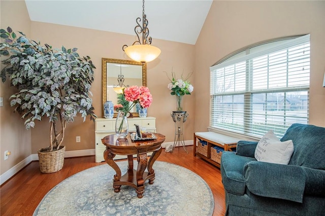
M 131 45 L 135 37 L 113 32 L 105 32 L 86 28 L 78 28 L 42 22 L 31 22 L 30 38 L 47 43 L 52 47 L 78 48 L 80 55 L 88 55 L 96 66 L 95 80 L 91 88 L 95 114 L 102 116 L 102 58 L 128 59 L 122 51 L 124 44 Z M 153 96 L 153 102 L 148 109 L 148 116 L 156 117 L 157 132 L 166 135 L 166 141 L 174 140 L 174 122 L 170 113 L 176 109 L 176 99 L 170 95 L 167 88 L 169 80 L 164 73 L 171 73 L 172 68 L 180 77 L 182 71 L 189 73 L 194 69 L 194 45 L 153 39 L 152 44 L 161 49 L 158 59 L 147 64 L 147 86 Z M 193 79 L 193 77 L 191 78 Z M 195 91 L 195 86 L 194 86 Z M 184 107 L 191 118 L 186 122 L 185 140 L 192 139 L 194 127 L 194 95 L 186 95 Z M 76 118 L 67 126 L 63 145 L 66 151 L 94 149 L 94 123 L 89 119 L 82 123 Z M 81 142 L 76 143 L 76 136 L 81 136 Z M 31 136 L 31 152 L 45 147 L 49 137 L 48 121 L 37 122 Z

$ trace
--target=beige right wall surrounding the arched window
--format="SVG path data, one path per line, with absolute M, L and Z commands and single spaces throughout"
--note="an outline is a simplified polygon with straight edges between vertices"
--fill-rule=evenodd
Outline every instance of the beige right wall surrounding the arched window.
M 206 131 L 209 125 L 210 66 L 249 45 L 307 33 L 311 41 L 309 124 L 325 126 L 325 2 L 214 1 L 196 43 L 194 130 Z

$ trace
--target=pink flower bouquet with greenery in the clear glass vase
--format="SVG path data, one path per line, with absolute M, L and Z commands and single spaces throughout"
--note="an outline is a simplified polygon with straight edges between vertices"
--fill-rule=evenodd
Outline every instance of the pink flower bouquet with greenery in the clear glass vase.
M 120 110 L 126 114 L 137 103 L 140 103 L 142 108 L 149 107 L 152 103 L 152 95 L 145 86 L 131 86 L 123 89 L 123 94 L 120 94 L 120 97 L 118 96 L 118 102 L 120 104 L 115 105 L 114 110 Z M 132 104 L 129 102 L 132 102 Z

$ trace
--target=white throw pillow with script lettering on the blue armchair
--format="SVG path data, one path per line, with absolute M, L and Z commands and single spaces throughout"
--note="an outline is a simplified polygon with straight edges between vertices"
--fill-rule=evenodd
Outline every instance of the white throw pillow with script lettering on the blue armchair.
M 257 143 L 254 156 L 257 161 L 288 164 L 293 153 L 293 140 L 281 142 L 270 130 Z

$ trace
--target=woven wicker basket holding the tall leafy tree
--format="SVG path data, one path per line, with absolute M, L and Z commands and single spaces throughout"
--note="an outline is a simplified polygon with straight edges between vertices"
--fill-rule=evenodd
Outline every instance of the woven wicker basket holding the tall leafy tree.
M 63 167 L 65 146 L 61 146 L 59 150 L 54 152 L 46 152 L 48 148 L 40 149 L 39 155 L 40 170 L 43 173 L 57 172 Z

